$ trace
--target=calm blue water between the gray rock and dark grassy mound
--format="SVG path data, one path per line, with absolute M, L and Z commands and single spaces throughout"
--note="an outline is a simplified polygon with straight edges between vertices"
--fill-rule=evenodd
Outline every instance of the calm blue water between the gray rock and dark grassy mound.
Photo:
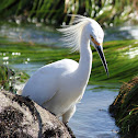
M 81 103 L 77 105 L 76 114 L 69 122 L 77 138 L 118 138 L 118 128 L 108 114 L 108 105 L 117 95 L 115 91 L 116 89 L 88 85 Z

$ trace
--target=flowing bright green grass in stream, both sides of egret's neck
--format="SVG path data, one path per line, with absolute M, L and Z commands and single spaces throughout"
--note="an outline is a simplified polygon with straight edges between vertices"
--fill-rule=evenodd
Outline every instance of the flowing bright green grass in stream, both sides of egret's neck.
M 138 55 L 134 58 L 127 54 L 130 49 L 137 49 L 137 41 L 113 41 L 104 43 L 104 54 L 110 70 L 107 78 L 101 59 L 93 50 L 93 67 L 89 83 L 122 83 L 138 74 Z M 134 49 L 135 50 L 135 49 Z M 20 53 L 20 55 L 14 55 Z M 4 56 L 3 56 L 4 55 Z M 9 42 L 5 37 L 0 37 L 0 64 L 9 57 L 9 65 L 23 64 L 30 58 L 30 62 L 49 64 L 64 58 L 71 58 L 79 61 L 79 53 L 70 54 L 68 48 L 51 48 L 45 45 Z

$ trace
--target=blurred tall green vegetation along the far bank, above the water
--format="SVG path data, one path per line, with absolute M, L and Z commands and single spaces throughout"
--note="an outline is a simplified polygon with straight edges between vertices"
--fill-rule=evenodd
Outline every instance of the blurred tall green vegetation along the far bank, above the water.
M 16 23 L 69 23 L 67 14 L 82 14 L 107 26 L 137 21 L 137 0 L 1 0 L 0 18 Z M 59 18 L 60 16 L 60 18 Z

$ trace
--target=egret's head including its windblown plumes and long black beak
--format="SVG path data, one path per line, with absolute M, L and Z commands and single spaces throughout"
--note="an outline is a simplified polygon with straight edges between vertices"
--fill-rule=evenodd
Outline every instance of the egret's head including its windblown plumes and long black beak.
M 103 38 L 104 32 L 100 24 L 82 15 L 71 15 L 74 18 L 74 22 L 72 25 L 62 26 L 62 28 L 58 30 L 64 34 L 62 42 L 65 46 L 71 47 L 72 51 L 80 50 L 80 41 L 81 36 L 87 39 L 90 39 L 91 44 L 97 50 L 105 71 L 108 76 L 107 64 L 103 53 Z M 83 35 L 82 35 L 83 32 Z

